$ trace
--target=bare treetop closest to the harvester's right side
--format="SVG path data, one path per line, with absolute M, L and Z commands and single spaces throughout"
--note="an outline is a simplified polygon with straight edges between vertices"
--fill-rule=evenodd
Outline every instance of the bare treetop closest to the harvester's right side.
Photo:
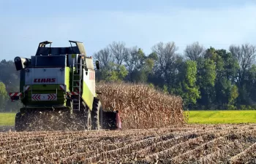
M 113 62 L 113 55 L 110 53 L 110 49 L 108 47 L 99 50 L 99 52 L 96 52 L 94 56 L 99 60 L 99 66 L 105 69 L 108 69 L 110 63 Z

